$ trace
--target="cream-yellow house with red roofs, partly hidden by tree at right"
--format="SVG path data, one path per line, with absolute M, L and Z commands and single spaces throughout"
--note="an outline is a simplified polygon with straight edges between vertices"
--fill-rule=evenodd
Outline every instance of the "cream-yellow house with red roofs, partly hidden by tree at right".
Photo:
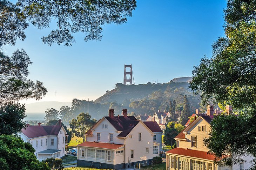
M 242 156 L 244 162 L 227 167 L 214 164 L 214 156 L 207 154 L 203 139 L 209 136 L 213 108 L 209 105 L 207 114 L 196 114 L 196 119 L 175 137 L 177 148 L 166 152 L 166 170 L 245 170 L 251 166 L 252 156 Z

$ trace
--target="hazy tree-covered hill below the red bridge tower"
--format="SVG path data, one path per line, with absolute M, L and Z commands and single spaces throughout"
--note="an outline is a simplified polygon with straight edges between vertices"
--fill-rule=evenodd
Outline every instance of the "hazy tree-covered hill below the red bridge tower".
M 199 98 L 188 89 L 187 82 L 150 83 L 138 85 L 124 85 L 117 83 L 113 90 L 107 91 L 95 101 L 89 101 L 89 114 L 92 118 L 101 119 L 108 115 L 108 109 L 114 108 L 115 114 L 121 114 L 123 108 L 128 113 L 153 115 L 157 110 L 169 110 L 169 102 L 175 100 L 177 106 L 183 104 L 184 95 L 187 96 L 190 110 L 199 108 Z M 62 118 L 64 122 L 76 117 L 80 112 L 88 111 L 88 101 L 73 99 L 72 107 Z M 133 113 L 133 114 L 134 114 Z

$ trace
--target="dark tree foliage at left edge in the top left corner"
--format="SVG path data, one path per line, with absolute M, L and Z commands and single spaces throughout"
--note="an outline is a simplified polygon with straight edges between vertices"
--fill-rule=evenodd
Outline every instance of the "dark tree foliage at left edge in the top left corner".
M 4 45 L 15 45 L 16 39 L 26 38 L 25 30 L 28 27 L 25 16 L 12 2 L 0 1 L 1 20 L 0 20 L 0 47 Z

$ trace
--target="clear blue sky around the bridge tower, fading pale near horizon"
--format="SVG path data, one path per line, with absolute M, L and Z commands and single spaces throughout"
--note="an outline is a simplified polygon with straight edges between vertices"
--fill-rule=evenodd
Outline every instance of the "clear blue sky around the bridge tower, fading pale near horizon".
M 136 84 L 192 76 L 193 66 L 210 57 L 211 44 L 224 35 L 225 7 L 224 0 L 138 0 L 127 23 L 103 26 L 101 41 L 85 42 L 80 33 L 71 47 L 48 46 L 41 38 L 55 23 L 42 30 L 29 24 L 26 39 L 6 46 L 6 54 L 27 52 L 33 62 L 28 78 L 49 91 L 41 101 L 95 100 L 123 82 L 124 64 L 133 65 Z

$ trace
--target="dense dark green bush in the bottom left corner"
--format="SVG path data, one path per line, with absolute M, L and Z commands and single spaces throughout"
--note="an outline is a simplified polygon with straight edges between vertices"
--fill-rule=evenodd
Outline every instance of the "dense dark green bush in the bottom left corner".
M 35 154 L 35 149 L 28 142 L 23 142 L 14 135 L 0 135 L 0 169 L 12 170 L 50 170 L 40 162 Z

